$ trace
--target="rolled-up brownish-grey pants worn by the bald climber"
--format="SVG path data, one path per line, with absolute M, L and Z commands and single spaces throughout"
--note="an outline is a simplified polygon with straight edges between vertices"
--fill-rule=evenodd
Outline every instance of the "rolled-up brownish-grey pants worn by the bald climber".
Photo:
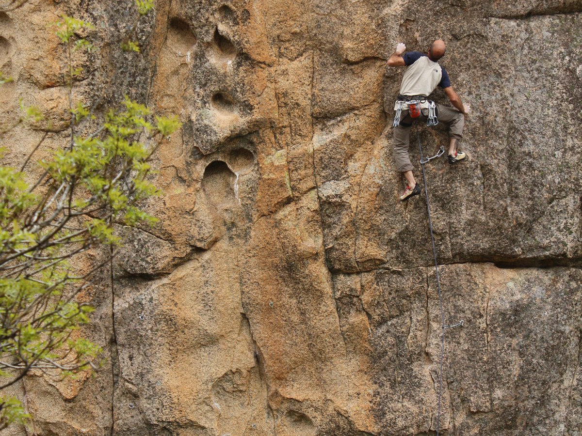
M 447 106 L 437 105 L 437 108 L 438 122 L 447 127 L 449 137 L 456 138 L 457 140 L 463 138 L 463 127 L 465 125 L 464 115 L 458 110 L 448 108 Z M 427 116 L 428 109 L 423 109 L 421 115 L 416 120 L 426 123 Z M 408 110 L 403 110 L 400 116 L 400 126 L 394 129 L 394 160 L 396 161 L 396 169 L 401 173 L 414 169 L 408 155 L 411 126 L 402 125 L 402 123 L 411 124 L 412 121 L 413 119 L 408 115 Z

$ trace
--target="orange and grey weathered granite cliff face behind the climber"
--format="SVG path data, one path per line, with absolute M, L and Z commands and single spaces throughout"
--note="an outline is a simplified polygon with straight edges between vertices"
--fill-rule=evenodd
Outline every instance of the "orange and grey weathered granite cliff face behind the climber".
M 126 58 L 105 42 L 132 2 L 65 3 L 0 14 L 17 79 L 3 113 L 26 97 L 62 119 L 62 54 L 41 35 L 68 12 L 105 55 L 81 59 L 77 96 L 117 62 L 112 101 L 184 126 L 157 153 L 158 226 L 130 234 L 94 291 L 104 369 L 27 377 L 34 434 L 436 434 L 441 312 L 425 195 L 398 201 L 402 70 L 386 59 L 438 37 L 474 109 L 469 159 L 426 167 L 445 323 L 464 321 L 445 330 L 440 430 L 582 434 L 579 1 L 158 0 Z M 439 127 L 418 127 L 425 155 Z M 8 158 L 43 130 L 5 138 Z M 418 162 L 416 134 L 410 149 Z

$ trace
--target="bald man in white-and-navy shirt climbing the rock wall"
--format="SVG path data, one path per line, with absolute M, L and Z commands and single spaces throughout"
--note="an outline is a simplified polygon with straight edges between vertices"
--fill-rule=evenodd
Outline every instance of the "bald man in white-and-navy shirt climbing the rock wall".
M 396 168 L 404 174 L 407 186 L 400 201 L 420 194 L 420 188 L 414 180 L 408 154 L 410 126 L 415 118 L 429 121 L 429 125 L 441 122 L 449 130 L 449 163 L 453 164 L 463 160 L 465 153 L 457 150 L 457 143 L 463 137 L 464 115 L 471 110 L 469 105 L 463 105 L 459 95 L 450 85 L 449 74 L 438 64 L 438 60 L 445 55 L 445 43 L 442 40 L 434 41 L 426 53 L 417 51 L 406 52 L 406 45 L 400 42 L 396 45 L 396 51 L 388 59 L 388 66 L 406 66 L 400 95 L 394 109 L 394 159 Z M 435 105 L 428 100 L 432 91 L 441 87 L 455 109 L 447 106 Z M 432 119 L 432 120 L 431 120 Z M 437 121 L 438 119 L 438 121 Z M 431 124 L 432 121 L 432 124 Z

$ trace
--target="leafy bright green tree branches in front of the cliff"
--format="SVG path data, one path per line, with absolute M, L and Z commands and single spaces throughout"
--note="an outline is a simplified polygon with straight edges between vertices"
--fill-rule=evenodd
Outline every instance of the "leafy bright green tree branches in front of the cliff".
M 152 7 L 151 0 L 136 0 L 138 18 L 123 38 L 123 49 L 139 51 L 134 42 L 139 17 Z M 107 246 L 109 256 L 115 255 L 122 242 L 115 224 L 155 222 L 139 207 L 141 200 L 158 194 L 147 180 L 148 162 L 180 126 L 175 117 L 152 117 L 127 97 L 100 120 L 93 113 L 95 104 L 74 102 L 80 70 L 73 53 L 93 49 L 78 36 L 93 26 L 62 16 L 52 27 L 68 55 L 70 135 L 52 158 L 38 163 L 42 174 L 31 183 L 24 170 L 32 153 L 19 169 L 0 166 L 0 430 L 27 419 L 22 404 L 1 391 L 30 370 L 68 377 L 98 366 L 100 348 L 74 333 L 89 322 L 93 310 L 77 295 L 110 258 L 87 264 L 86 254 Z M 0 73 L 0 85 L 9 80 Z M 26 120 L 42 118 L 34 108 L 23 110 L 19 120 L 0 129 L 0 137 Z

